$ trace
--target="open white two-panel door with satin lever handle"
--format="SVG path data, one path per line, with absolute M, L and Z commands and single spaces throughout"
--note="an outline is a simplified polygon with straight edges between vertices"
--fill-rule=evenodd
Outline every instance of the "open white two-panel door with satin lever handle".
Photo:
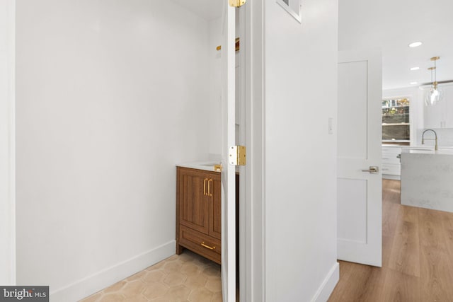
M 338 259 L 382 266 L 382 59 L 338 56 Z M 377 167 L 377 173 L 368 172 Z M 365 170 L 365 171 L 364 171 Z

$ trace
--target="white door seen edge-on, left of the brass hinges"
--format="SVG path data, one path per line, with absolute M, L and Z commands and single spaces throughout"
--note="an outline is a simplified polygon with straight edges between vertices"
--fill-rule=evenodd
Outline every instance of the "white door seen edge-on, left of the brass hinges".
M 236 301 L 236 169 L 229 164 L 235 144 L 235 8 L 224 0 L 222 30 L 222 294 Z

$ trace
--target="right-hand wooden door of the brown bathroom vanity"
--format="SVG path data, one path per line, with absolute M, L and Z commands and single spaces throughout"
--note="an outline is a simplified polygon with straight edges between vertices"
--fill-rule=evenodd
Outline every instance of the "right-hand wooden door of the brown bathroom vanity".
M 220 181 L 220 175 L 214 175 L 210 178 L 210 190 L 212 196 L 210 196 L 210 228 L 209 235 L 221 239 L 221 230 L 222 230 L 222 204 L 221 200 L 221 186 L 222 182 Z

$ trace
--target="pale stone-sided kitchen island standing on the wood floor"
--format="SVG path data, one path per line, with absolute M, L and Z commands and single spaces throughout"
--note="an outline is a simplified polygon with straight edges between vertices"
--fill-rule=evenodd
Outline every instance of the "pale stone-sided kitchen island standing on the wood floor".
M 403 149 L 401 204 L 453 212 L 453 150 Z

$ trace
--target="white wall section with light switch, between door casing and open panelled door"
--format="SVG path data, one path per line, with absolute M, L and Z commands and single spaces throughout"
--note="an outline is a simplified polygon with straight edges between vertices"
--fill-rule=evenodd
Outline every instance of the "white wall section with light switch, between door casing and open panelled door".
M 336 262 L 338 1 L 265 1 L 266 301 L 326 301 Z

